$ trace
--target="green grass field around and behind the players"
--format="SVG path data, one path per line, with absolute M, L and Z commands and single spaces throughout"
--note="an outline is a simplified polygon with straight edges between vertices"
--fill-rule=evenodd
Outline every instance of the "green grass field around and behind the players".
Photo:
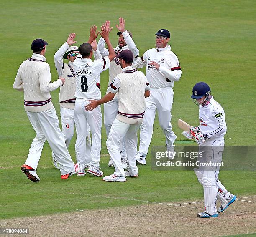
M 13 90 L 13 82 L 20 63 L 31 56 L 31 42 L 36 38 L 48 42 L 46 58 L 54 81 L 57 78 L 54 53 L 69 33 L 77 33 L 80 45 L 87 41 L 91 25 L 100 27 L 110 20 L 115 28 L 121 16 L 142 55 L 154 48 L 157 30 L 169 29 L 172 50 L 182 67 L 182 77 L 174 83 L 172 108 L 176 144 L 184 140 L 177 127 L 178 118 L 198 124 L 198 107 L 190 94 L 196 82 L 205 81 L 225 110 L 228 126 L 225 144 L 256 145 L 255 1 L 3 0 L 1 5 L 0 219 L 141 205 L 133 199 L 150 202 L 203 199 L 202 187 L 192 171 L 152 171 L 150 159 L 146 166 L 139 166 L 138 179 L 128 179 L 125 183 L 102 182 L 90 175 L 61 180 L 59 171 L 51 165 L 47 142 L 37 171 L 41 181 L 29 181 L 20 166 L 26 160 L 35 132 L 23 108 L 23 93 Z M 116 31 L 113 29 L 110 35 L 113 46 L 117 45 Z M 107 83 L 108 71 L 101 76 L 102 95 Z M 58 96 L 59 90 L 51 92 L 59 116 Z M 101 168 L 109 175 L 113 168 L 107 165 L 105 142 L 102 125 Z M 73 160 L 74 144 L 75 135 L 69 146 Z M 152 145 L 165 145 L 157 117 Z M 255 172 L 220 171 L 219 178 L 238 196 L 256 193 Z

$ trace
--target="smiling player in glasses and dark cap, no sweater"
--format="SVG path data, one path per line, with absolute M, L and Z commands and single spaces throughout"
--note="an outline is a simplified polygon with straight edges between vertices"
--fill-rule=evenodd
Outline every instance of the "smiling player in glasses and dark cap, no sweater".
M 156 48 L 147 50 L 138 61 L 138 68 L 146 66 L 146 77 L 150 85 L 151 96 L 146 98 L 146 112 L 141 124 L 140 147 L 136 155 L 139 164 L 146 164 L 146 155 L 153 135 L 153 124 L 158 112 L 161 129 L 166 137 L 169 154 L 174 151 L 177 138 L 172 131 L 171 109 L 173 103 L 174 81 L 179 81 L 182 71 L 177 56 L 167 43 L 170 40 L 168 30 L 156 33 Z

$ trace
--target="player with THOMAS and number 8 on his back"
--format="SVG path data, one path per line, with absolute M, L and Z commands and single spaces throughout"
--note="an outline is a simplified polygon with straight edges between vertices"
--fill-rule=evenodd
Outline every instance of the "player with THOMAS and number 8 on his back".
M 93 111 L 86 111 L 85 106 L 89 103 L 90 99 L 100 99 L 100 73 L 109 68 L 110 61 L 115 57 L 115 52 L 108 38 L 108 29 L 104 26 L 101 27 L 102 32 L 100 35 L 105 39 L 109 55 L 92 61 L 92 46 L 90 45 L 93 40 L 97 38 L 97 27 L 92 26 L 90 38 L 88 43 L 83 43 L 79 47 L 80 54 L 74 60 L 74 72 L 76 75 L 76 92 L 75 92 L 75 124 L 77 131 L 77 141 L 75 145 L 77 161 L 80 163 L 86 159 L 86 147 L 84 146 L 87 136 L 87 123 L 90 126 L 92 133 L 92 147 L 91 147 L 91 162 L 87 173 L 95 176 L 102 176 L 103 172 L 100 171 L 100 149 L 101 149 L 101 124 L 102 114 L 100 106 Z

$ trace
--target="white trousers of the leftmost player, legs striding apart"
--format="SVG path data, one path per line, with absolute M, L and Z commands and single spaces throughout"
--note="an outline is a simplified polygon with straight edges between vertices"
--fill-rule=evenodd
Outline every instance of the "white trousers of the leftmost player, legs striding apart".
M 74 162 L 67 150 L 64 135 L 59 128 L 59 120 L 55 108 L 44 112 L 26 111 L 26 113 L 33 129 L 36 131 L 36 137 L 33 139 L 25 164 L 36 171 L 44 142 L 47 139 L 51 150 L 56 156 L 56 160 L 59 162 L 61 174 L 72 172 Z

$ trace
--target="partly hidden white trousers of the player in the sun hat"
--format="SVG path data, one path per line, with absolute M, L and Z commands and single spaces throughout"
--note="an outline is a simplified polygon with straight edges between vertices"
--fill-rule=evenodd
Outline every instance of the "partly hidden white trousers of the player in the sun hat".
M 62 126 L 62 132 L 64 134 L 65 143 L 67 148 L 69 148 L 70 141 L 74 135 L 74 109 L 71 108 L 62 108 L 60 107 L 60 114 L 61 114 L 61 126 Z M 90 136 L 90 126 L 87 126 L 87 136 L 86 136 L 86 154 L 85 156 L 87 163 L 83 161 L 80 164 L 81 169 L 83 167 L 89 166 L 91 162 L 91 136 Z M 52 153 L 53 154 L 53 153 Z M 55 156 L 53 154 L 53 158 L 55 159 Z

